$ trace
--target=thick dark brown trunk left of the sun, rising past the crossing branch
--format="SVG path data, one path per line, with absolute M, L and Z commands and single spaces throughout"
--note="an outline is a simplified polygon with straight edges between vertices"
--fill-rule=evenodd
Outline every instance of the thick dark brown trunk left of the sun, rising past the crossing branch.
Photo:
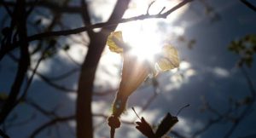
M 130 0 L 119 0 L 115 5 L 113 14 L 111 14 L 109 20 L 121 19 L 129 3 Z M 115 30 L 115 28 L 116 25 L 104 27 L 101 32 L 92 33 L 90 35 L 90 45 L 79 76 L 78 99 L 76 105 L 78 138 L 93 138 L 91 112 L 93 82 L 97 65 L 106 45 L 107 37 L 110 32 Z

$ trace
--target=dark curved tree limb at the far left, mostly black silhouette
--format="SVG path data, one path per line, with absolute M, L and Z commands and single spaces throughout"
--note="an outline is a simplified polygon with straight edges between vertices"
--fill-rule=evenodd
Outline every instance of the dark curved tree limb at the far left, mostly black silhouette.
M 19 14 L 18 14 L 19 13 Z M 26 32 L 26 7 L 25 7 L 25 0 L 17 1 L 17 5 L 15 8 L 13 20 L 15 20 L 15 24 L 17 26 L 17 32 L 20 38 L 20 60 L 19 60 L 19 67 L 16 73 L 15 82 L 13 83 L 9 97 L 7 101 L 5 101 L 2 111 L 0 112 L 0 124 L 3 124 L 5 118 L 8 117 L 9 112 L 15 106 L 15 101 L 17 96 L 20 93 L 20 88 L 23 83 L 23 79 L 26 76 L 26 71 L 28 66 L 30 65 L 30 57 L 28 53 L 28 42 L 27 39 L 27 32 Z M 19 21 L 18 21 L 19 20 Z

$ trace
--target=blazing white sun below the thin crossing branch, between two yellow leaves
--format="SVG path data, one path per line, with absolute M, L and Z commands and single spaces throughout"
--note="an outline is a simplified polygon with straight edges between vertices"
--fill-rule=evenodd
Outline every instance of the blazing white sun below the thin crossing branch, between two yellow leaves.
M 151 20 L 153 21 L 153 20 Z M 149 20 L 143 20 L 137 25 L 130 26 L 123 32 L 124 41 L 128 43 L 131 55 L 137 55 L 138 60 L 153 61 L 154 56 L 160 53 L 160 34 L 151 29 L 145 28 Z

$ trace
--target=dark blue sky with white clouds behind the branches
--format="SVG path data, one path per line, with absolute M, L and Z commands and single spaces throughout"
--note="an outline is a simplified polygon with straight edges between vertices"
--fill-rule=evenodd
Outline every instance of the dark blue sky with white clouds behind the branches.
M 96 10 L 96 6 L 99 5 L 102 7 L 101 10 L 96 10 L 96 12 L 93 12 L 94 14 L 91 14 L 95 18 L 93 20 L 95 23 L 107 20 L 111 11 L 109 9 L 113 9 L 113 3 L 115 3 L 115 1 L 107 2 L 105 0 L 88 2 L 90 3 L 90 10 Z M 153 4 L 151 11 L 153 14 L 154 12 L 157 13 L 157 9 L 161 8 L 163 3 L 160 2 L 164 1 L 159 0 L 155 5 Z M 148 99 L 154 95 L 154 88 L 150 83 L 143 83 L 130 96 L 126 112 L 121 117 L 122 119 L 130 122 L 138 120 L 135 113 L 131 111 L 131 106 L 134 106 L 137 112 L 141 112 L 139 113 L 140 117 L 144 117 L 150 124 L 159 124 L 161 118 L 167 112 L 175 115 L 182 106 L 189 104 L 189 107 L 179 113 L 177 116 L 179 122 L 173 127 L 173 130 L 189 136 L 193 135 L 195 131 L 204 128 L 209 118 L 217 118 L 212 113 L 200 112 L 204 99 L 214 109 L 219 112 L 225 112 L 229 108 L 230 97 L 240 99 L 249 95 L 246 79 L 241 70 L 236 67 L 239 56 L 231 53 L 228 50 L 228 46 L 232 40 L 239 39 L 247 34 L 255 34 L 256 13 L 238 0 L 206 2 L 218 14 L 218 20 L 212 21 L 212 14 L 206 14 L 205 7 L 199 1 L 194 1 L 189 6 L 173 13 L 167 20 L 134 21 L 122 24 L 117 28 L 117 30 L 124 33 L 125 41 L 131 43 L 131 45 L 137 46 L 137 44 L 143 45 L 146 43 L 145 46 L 148 46 L 152 43 L 157 43 L 155 45 L 159 44 L 158 47 L 161 47 L 163 43 L 172 43 L 177 48 L 182 59 L 178 70 L 162 72 L 157 76 L 156 80 L 159 82 L 158 93 L 154 96 L 154 100 L 147 110 L 141 112 L 142 106 L 147 104 Z M 171 2 L 164 3 L 164 5 L 170 6 L 169 4 L 173 5 Z M 147 6 L 148 3 L 143 3 L 143 1 L 137 2 L 137 4 L 133 2 L 124 17 L 144 14 Z M 166 9 L 168 9 L 168 6 L 166 6 Z M 3 14 L 3 9 L 1 9 L 0 14 Z M 66 20 L 70 16 L 72 15 L 67 15 Z M 34 17 L 34 19 L 36 18 L 38 17 Z M 47 24 L 47 19 L 44 21 Z M 68 21 L 71 20 L 67 20 L 67 25 L 69 24 Z M 81 20 L 72 24 L 72 27 L 80 26 L 79 21 Z M 143 44 L 137 40 L 137 37 L 140 36 L 137 35 L 138 33 L 146 37 L 146 40 L 142 42 Z M 180 41 L 177 36 L 183 36 L 185 41 Z M 74 37 L 80 39 L 80 37 Z M 187 43 L 189 40 L 194 39 L 195 44 L 192 49 L 189 49 Z M 38 68 L 38 71 L 42 74 L 55 77 L 60 72 L 78 69 L 79 66 L 74 64 L 67 54 L 71 55 L 79 64 L 83 62 L 87 49 L 82 44 L 73 43 L 71 39 L 66 37 L 61 37 L 60 42 L 72 43 L 72 47 L 67 53 L 61 50 L 53 59 L 44 60 Z M 147 47 L 143 49 L 146 50 Z M 32 57 L 34 63 L 38 56 L 34 55 Z M 121 56 L 112 53 L 106 47 L 96 72 L 96 91 L 118 88 L 121 64 Z M 251 68 L 246 68 L 248 76 L 253 81 L 253 86 L 255 86 L 256 81 L 256 72 L 253 72 L 255 71 L 255 66 L 255 62 L 253 62 Z M 8 93 L 10 84 L 15 77 L 15 68 L 16 65 L 10 58 L 6 57 L 1 60 L 0 93 Z M 79 72 L 76 72 L 71 77 L 56 81 L 56 83 L 76 89 L 78 78 Z M 61 116 L 72 115 L 75 110 L 76 95 L 73 93 L 60 93 L 60 90 L 49 87 L 48 84 L 35 76 L 28 96 L 45 109 L 55 110 Z M 109 115 L 114 95 L 94 96 L 94 101 L 92 102 L 93 112 Z M 236 113 L 239 112 L 241 110 Z M 253 105 L 250 114 L 241 121 L 241 124 L 231 137 L 256 135 L 254 132 L 256 127 L 255 113 L 255 105 Z M 9 119 L 13 119 L 15 123 L 27 119 L 32 120 L 26 124 L 13 125 L 7 131 L 7 134 L 12 138 L 25 138 L 32 133 L 32 130 L 37 128 L 38 124 L 43 124 L 49 121 L 50 118 L 41 115 L 31 106 L 20 103 L 20 106 L 15 108 Z M 94 118 L 94 124 L 96 125 L 95 137 L 108 137 L 109 128 L 106 118 Z M 74 137 L 75 123 L 73 121 L 67 124 L 58 124 L 58 126 L 44 130 L 38 135 L 38 138 L 57 137 L 57 129 L 61 132 L 67 132 L 61 133 L 61 137 Z M 226 123 L 224 119 L 221 123 L 212 125 L 212 128 L 207 129 L 199 137 L 223 137 L 230 129 L 230 126 L 231 124 Z M 121 128 L 116 130 L 116 137 L 141 138 L 143 135 L 135 130 L 135 124 L 122 124 Z

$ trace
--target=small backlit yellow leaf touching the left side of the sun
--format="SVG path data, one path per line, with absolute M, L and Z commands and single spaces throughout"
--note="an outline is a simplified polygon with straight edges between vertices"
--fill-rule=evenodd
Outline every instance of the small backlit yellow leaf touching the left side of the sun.
M 122 53 L 123 49 L 118 46 L 116 41 L 123 42 L 122 32 L 111 32 L 107 40 L 108 47 L 112 52 Z

